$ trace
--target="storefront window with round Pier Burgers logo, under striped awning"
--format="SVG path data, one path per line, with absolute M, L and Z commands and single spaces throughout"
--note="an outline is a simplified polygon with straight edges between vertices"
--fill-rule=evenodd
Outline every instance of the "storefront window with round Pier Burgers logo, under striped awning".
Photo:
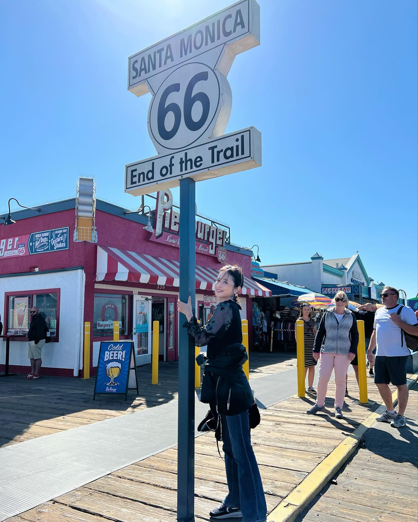
M 93 336 L 112 337 L 113 322 L 119 321 L 119 335 L 127 335 L 128 295 L 95 294 L 93 314 Z

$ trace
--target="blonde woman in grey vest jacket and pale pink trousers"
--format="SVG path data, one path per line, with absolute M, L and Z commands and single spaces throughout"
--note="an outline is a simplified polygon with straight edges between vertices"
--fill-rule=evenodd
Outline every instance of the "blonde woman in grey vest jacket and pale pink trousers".
M 319 324 L 313 358 L 318 360 L 320 354 L 317 402 L 306 413 L 314 415 L 325 409 L 328 383 L 334 371 L 335 380 L 335 417 L 342 419 L 341 408 L 344 404 L 345 375 L 350 362 L 357 354 L 358 330 L 354 314 L 345 308 L 349 299 L 344 292 L 335 294 L 335 306 L 323 314 Z

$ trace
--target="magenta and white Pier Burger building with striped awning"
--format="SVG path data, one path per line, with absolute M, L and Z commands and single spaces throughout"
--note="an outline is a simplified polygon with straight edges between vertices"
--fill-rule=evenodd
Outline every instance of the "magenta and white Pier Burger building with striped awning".
M 11 335 L 10 371 L 29 370 L 27 338 L 17 335 L 27 333 L 29 310 L 35 305 L 51 331 L 51 342 L 42 350 L 43 374 L 83 375 L 85 322 L 91 325 L 90 374 L 96 372 L 100 341 L 112 339 L 113 321 L 120 322 L 120 339 L 134 340 L 138 365 L 150 362 L 153 321 L 159 322 L 160 359 L 177 360 L 176 234 L 166 230 L 157 240 L 155 231 L 144 230 L 146 216 L 124 215 L 123 208 L 98 200 L 97 243 L 75 241 L 75 198 L 40 210 L 14 212 L 16 222 L 0 226 L 0 310 L 4 334 Z M 171 226 L 168 217 L 165 223 Z M 196 242 L 199 317 L 206 319 L 213 302 L 219 268 L 241 266 L 245 276 L 241 315 L 249 322 L 251 346 L 251 297 L 271 293 L 251 279 L 252 252 L 226 243 L 220 256 L 217 248 L 211 254 L 206 243 L 211 246 L 204 238 Z M 4 353 L 5 341 L 0 340 L 2 362 Z

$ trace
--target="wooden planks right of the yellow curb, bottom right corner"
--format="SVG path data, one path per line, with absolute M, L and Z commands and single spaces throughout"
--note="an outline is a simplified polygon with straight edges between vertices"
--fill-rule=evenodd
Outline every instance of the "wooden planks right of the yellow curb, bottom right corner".
M 400 430 L 388 424 L 365 434 L 360 448 L 297 519 L 317 522 L 418 519 L 418 385 L 410 389 Z

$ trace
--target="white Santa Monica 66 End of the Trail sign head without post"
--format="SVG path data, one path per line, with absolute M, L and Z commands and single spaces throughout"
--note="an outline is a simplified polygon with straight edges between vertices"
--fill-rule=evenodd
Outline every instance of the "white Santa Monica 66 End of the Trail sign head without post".
M 230 134 L 226 79 L 237 54 L 260 44 L 260 6 L 243 0 L 129 57 L 127 89 L 152 94 L 148 133 L 157 156 L 125 166 L 134 196 L 261 165 L 254 127 Z

